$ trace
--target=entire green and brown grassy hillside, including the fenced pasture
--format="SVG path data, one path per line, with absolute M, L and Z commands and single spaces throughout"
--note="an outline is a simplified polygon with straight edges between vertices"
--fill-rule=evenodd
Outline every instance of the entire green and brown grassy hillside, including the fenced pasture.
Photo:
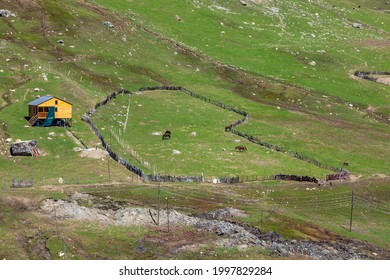
M 155 85 L 180 85 L 244 110 L 249 120 L 239 131 L 324 164 L 348 162 L 352 175 L 325 189 L 278 181 L 164 185 L 162 196 L 173 209 L 192 215 L 234 207 L 248 214 L 235 221 L 255 231 L 354 238 L 388 249 L 390 87 L 353 76 L 355 70 L 390 69 L 384 2 L 264 0 L 244 7 L 233 0 L 0 0 L 0 9 L 15 14 L 0 18 L 0 257 L 57 259 L 62 236 L 73 259 L 242 258 L 237 247 L 224 249 L 216 245 L 218 237 L 191 227 L 177 229 L 170 243 L 172 235 L 161 228 L 68 220 L 54 225 L 38 212 L 44 199 L 70 201 L 76 192 L 95 197 L 87 207 L 156 207 L 155 185 L 139 184 L 107 157 L 81 157 L 74 149 L 102 148 L 81 120 L 97 102 L 120 88 L 136 92 Z M 70 130 L 79 141 L 65 128 L 28 126 L 27 104 L 46 94 L 73 104 Z M 224 132 L 240 117 L 182 93 L 156 91 L 120 96 L 99 108 L 93 121 L 106 140 L 112 128 L 142 160 L 113 138 L 115 152 L 151 173 L 330 173 Z M 153 135 L 166 129 L 171 140 Z M 7 138 L 36 139 L 41 156 L 11 157 Z M 238 143 L 248 151 L 234 151 Z M 173 155 L 174 149 L 182 153 Z M 30 178 L 34 188 L 9 188 L 12 179 Z M 349 232 L 351 188 L 360 201 Z M 178 253 L 183 244 L 194 251 Z M 143 246 L 147 250 L 139 251 Z M 280 258 L 259 248 L 246 254 Z

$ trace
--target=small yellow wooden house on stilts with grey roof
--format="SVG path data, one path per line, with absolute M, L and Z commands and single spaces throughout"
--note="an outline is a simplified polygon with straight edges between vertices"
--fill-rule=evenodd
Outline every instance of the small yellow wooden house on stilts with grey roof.
M 55 96 L 46 95 L 28 103 L 31 126 L 72 126 L 72 104 Z

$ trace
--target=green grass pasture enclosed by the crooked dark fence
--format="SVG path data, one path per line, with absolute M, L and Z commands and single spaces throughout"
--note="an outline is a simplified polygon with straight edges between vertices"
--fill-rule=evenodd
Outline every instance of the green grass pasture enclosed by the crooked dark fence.
M 242 116 L 238 114 L 182 92 L 153 91 L 120 96 L 99 109 L 93 121 L 106 139 L 109 139 L 112 127 L 121 141 L 137 152 L 142 162 L 154 166 L 149 172 L 204 174 L 217 178 L 279 173 L 324 177 L 330 172 L 224 131 L 226 125 L 240 118 Z M 172 138 L 163 141 L 161 134 L 167 129 L 172 131 Z M 238 145 L 246 146 L 248 151 L 236 151 Z M 114 144 L 113 147 L 121 151 L 120 154 L 126 154 L 120 146 Z M 174 154 L 174 150 L 180 154 Z M 130 157 L 129 161 L 135 160 Z

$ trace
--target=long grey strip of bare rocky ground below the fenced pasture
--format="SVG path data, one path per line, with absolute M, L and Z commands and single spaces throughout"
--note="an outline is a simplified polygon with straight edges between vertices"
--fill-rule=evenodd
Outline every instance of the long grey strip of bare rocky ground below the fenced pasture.
M 82 206 L 87 205 L 87 206 Z M 175 210 L 157 211 L 147 208 L 135 208 L 120 205 L 110 197 L 96 203 L 96 199 L 87 194 L 75 193 L 70 201 L 47 199 L 41 211 L 59 219 L 94 221 L 117 226 L 193 226 L 199 230 L 215 233 L 218 238 L 216 246 L 238 247 L 261 246 L 272 250 L 276 255 L 286 258 L 307 259 L 390 259 L 390 252 L 363 241 L 350 240 L 332 236 L 329 240 L 287 240 L 274 233 L 261 232 L 234 221 L 236 217 L 245 216 L 241 210 L 223 208 L 200 216 L 188 216 Z M 335 238 L 336 237 L 336 238 Z M 177 251 L 186 248 L 177 248 Z

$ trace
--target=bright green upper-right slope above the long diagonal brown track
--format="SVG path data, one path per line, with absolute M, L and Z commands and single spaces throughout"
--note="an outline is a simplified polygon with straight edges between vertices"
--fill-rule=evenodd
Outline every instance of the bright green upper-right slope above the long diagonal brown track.
M 353 10 L 346 1 L 337 8 L 328 1 L 299 0 L 266 1 L 248 7 L 233 0 L 94 2 L 249 72 L 363 106 L 389 109 L 388 87 L 348 77 L 351 69 L 389 68 L 384 58 L 390 22 L 383 13 Z M 351 26 L 359 20 L 366 28 Z M 310 61 L 317 65 L 311 67 Z

